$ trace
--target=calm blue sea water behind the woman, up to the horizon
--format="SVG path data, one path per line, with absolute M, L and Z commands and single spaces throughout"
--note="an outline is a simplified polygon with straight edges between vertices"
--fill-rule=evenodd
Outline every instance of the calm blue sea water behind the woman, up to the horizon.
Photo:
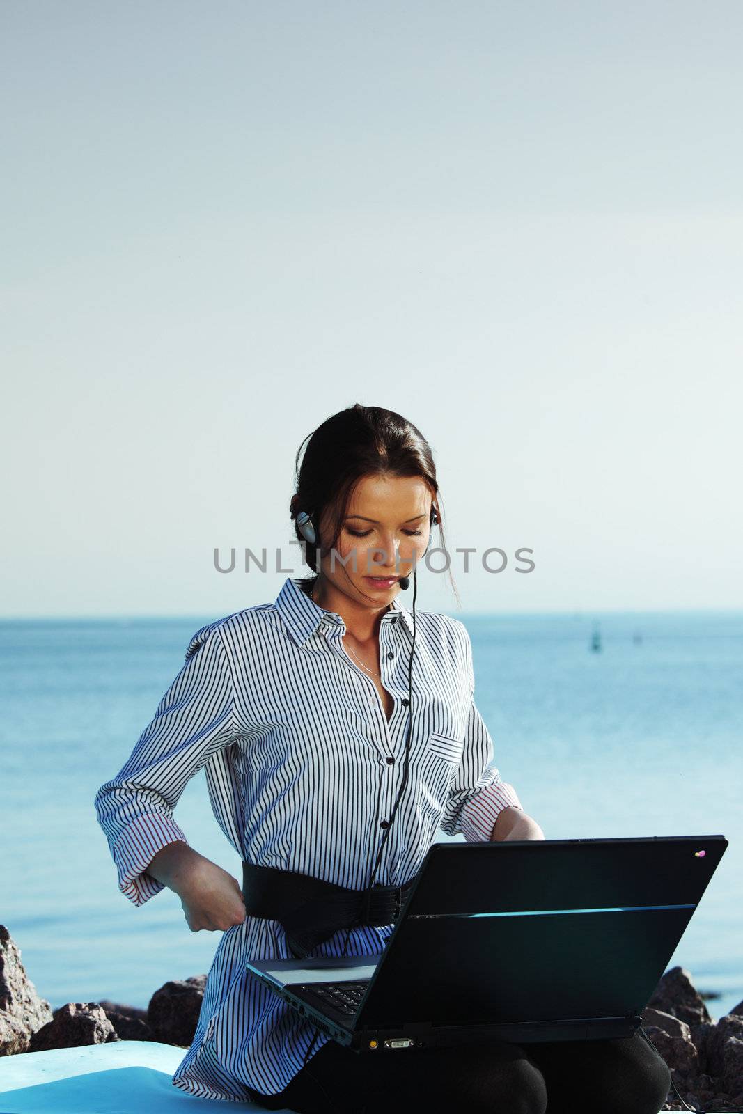
M 167 979 L 209 967 L 217 934 L 190 932 L 174 893 L 139 909 L 119 893 L 92 800 L 211 618 L 0 624 L 0 921 L 52 1007 L 104 997 L 144 1007 Z M 596 619 L 603 651 L 590 653 Z M 496 763 L 547 838 L 730 840 L 668 964 L 722 995 L 708 1003 L 714 1017 L 726 1013 L 743 998 L 743 614 L 465 622 Z M 241 877 L 203 772 L 176 819 Z

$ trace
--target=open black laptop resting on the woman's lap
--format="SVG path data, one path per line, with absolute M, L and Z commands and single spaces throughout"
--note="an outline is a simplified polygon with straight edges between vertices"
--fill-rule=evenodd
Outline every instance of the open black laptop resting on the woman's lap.
M 250 959 L 356 1052 L 628 1037 L 724 836 L 433 843 L 383 951 Z

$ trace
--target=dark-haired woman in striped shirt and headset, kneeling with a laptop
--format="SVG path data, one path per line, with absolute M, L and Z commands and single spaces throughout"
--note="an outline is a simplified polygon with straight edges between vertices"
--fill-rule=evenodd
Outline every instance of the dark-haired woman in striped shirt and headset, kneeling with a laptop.
M 96 797 L 121 891 L 139 906 L 167 886 L 192 931 L 223 932 L 173 1083 L 300 1112 L 456 1103 L 544 1114 L 549 1095 L 549 1114 L 657 1114 L 668 1069 L 639 1037 L 377 1058 L 334 1043 L 247 975 L 248 957 L 307 952 L 285 917 L 251 912 L 247 873 L 241 889 L 175 823 L 202 766 L 244 871 L 280 889 L 297 874 L 353 897 L 373 881 L 402 887 L 439 828 L 468 841 L 544 839 L 490 761 L 466 627 L 414 607 L 411 617 L 398 598 L 441 518 L 428 442 L 400 414 L 356 404 L 312 433 L 301 467 L 300 456 L 290 510 L 297 541 L 315 541 L 305 551 L 315 575 L 287 577 L 273 603 L 194 635 L 129 760 Z M 356 913 L 319 934 L 312 955 L 378 954 L 392 928 Z

